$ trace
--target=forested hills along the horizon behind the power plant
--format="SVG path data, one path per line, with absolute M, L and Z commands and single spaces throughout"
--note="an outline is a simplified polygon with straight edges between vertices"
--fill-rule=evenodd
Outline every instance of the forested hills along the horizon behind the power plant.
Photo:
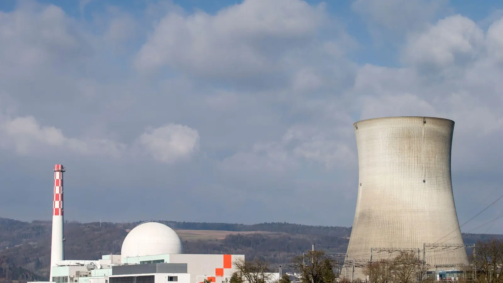
M 351 228 L 308 226 L 290 223 L 255 225 L 157 221 L 175 229 L 184 252 L 244 254 L 271 263 L 288 262 L 311 249 L 346 252 Z M 104 254 L 120 253 L 122 241 L 135 223 L 65 223 L 65 258 L 99 259 Z M 465 243 L 503 235 L 464 234 Z M 12 280 L 48 279 L 51 222 L 22 222 L 0 218 L 0 253 L 7 263 L 0 277 Z M 8 249 L 7 249 L 8 248 Z

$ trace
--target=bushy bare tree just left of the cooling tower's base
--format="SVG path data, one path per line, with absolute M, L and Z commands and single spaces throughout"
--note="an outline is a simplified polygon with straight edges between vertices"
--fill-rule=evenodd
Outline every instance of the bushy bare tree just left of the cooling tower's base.
M 303 283 L 331 283 L 335 279 L 332 261 L 323 251 L 308 251 L 294 257 L 292 265 L 302 273 Z

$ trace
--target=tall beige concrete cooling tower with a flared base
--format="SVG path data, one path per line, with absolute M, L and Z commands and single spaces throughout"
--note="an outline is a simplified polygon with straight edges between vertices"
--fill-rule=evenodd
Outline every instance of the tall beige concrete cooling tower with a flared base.
M 364 262 L 371 253 L 373 260 L 390 259 L 400 249 L 416 249 L 423 260 L 425 243 L 462 245 L 451 183 L 454 121 L 388 117 L 356 122 L 354 129 L 359 184 L 347 260 Z M 463 247 L 425 252 L 431 269 L 468 264 Z M 342 276 L 364 279 L 362 271 L 345 267 Z

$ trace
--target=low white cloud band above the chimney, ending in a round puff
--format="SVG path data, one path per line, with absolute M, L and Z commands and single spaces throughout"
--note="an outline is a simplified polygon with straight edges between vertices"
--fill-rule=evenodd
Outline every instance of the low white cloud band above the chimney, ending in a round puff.
M 33 117 L 0 117 L 2 146 L 14 148 L 20 155 L 33 154 L 45 148 L 70 151 L 80 155 L 133 157 L 133 147 L 108 138 L 67 137 L 54 126 L 43 126 Z M 142 152 L 156 161 L 174 163 L 188 159 L 199 147 L 197 130 L 188 126 L 168 124 L 149 129 L 137 139 Z

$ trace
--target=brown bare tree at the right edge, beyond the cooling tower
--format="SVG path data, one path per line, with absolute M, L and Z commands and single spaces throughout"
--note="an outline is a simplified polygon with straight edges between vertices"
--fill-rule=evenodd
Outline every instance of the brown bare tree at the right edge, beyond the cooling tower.
M 503 241 L 491 239 L 477 242 L 472 264 L 477 269 L 476 282 L 503 282 Z

